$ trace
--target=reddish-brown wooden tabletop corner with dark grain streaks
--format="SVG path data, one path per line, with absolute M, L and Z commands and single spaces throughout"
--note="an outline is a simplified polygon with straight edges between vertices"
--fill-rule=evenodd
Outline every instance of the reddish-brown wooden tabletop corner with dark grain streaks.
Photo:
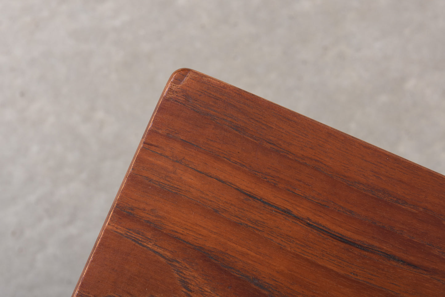
M 445 177 L 193 70 L 73 296 L 445 296 Z

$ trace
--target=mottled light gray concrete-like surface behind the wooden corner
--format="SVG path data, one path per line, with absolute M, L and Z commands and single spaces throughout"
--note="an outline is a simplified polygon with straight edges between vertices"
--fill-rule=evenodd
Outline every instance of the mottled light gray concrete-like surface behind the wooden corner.
M 445 1 L 0 0 L 0 295 L 70 296 L 188 67 L 445 173 Z

